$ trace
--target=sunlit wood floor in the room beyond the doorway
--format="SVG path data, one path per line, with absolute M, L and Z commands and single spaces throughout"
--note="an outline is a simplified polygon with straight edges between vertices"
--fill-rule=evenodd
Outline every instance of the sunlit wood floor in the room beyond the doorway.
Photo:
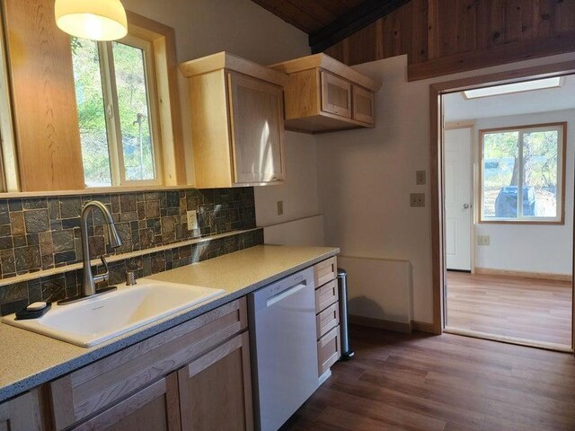
M 571 282 L 448 271 L 447 326 L 571 347 Z

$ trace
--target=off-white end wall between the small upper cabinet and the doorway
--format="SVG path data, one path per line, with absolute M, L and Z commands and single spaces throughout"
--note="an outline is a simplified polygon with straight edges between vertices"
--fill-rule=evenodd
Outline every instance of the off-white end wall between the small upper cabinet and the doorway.
M 376 95 L 376 128 L 316 137 L 326 243 L 348 257 L 409 260 L 413 319 L 433 321 L 429 205 L 409 207 L 411 192 L 425 192 L 429 199 L 429 187 L 415 185 L 415 171 L 429 172 L 430 165 L 429 84 L 573 58 L 575 53 L 412 83 L 406 80 L 405 56 L 356 66 L 383 87 Z M 389 289 L 411 287 L 390 286 L 385 277 L 374 283 L 389 295 L 395 294 Z

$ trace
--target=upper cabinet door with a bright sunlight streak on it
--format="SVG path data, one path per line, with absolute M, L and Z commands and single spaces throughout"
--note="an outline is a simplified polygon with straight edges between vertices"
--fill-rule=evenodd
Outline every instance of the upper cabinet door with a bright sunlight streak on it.
M 283 90 L 249 76 L 227 76 L 234 183 L 283 181 Z

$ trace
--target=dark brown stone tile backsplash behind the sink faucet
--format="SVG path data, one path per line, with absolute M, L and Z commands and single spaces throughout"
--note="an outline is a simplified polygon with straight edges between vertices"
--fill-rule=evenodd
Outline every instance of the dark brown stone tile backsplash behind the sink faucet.
M 263 242 L 261 233 L 256 231 L 192 246 L 177 244 L 254 228 L 253 188 L 0 199 L 0 279 L 81 262 L 80 215 L 90 200 L 100 200 L 111 210 L 123 242 L 116 250 L 108 245 L 108 227 L 100 212 L 93 211 L 88 220 L 93 258 L 174 244 L 172 251 L 111 264 L 117 274 L 121 272 L 122 279 L 127 265 L 137 268 L 140 275 L 149 275 Z M 198 229 L 192 231 L 187 229 L 189 210 L 198 211 Z M 0 286 L 0 313 L 13 312 L 14 306 L 24 299 L 47 299 L 55 286 L 65 286 L 64 295 L 73 295 L 81 281 L 81 272 L 81 269 L 68 271 L 50 279 Z M 118 277 L 111 280 L 119 281 Z

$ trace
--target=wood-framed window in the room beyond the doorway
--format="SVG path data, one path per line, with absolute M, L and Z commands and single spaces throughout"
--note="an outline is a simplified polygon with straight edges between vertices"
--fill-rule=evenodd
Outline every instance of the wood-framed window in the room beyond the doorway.
M 482 222 L 563 222 L 565 127 L 481 131 Z

